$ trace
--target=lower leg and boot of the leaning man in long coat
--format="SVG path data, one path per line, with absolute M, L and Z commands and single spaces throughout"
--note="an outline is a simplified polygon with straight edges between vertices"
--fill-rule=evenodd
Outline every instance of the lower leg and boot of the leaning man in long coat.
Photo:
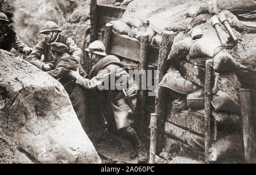
M 131 144 L 135 148 L 131 153 L 130 158 L 135 159 L 138 156 L 138 163 L 147 163 L 147 152 L 141 139 L 139 139 L 137 132 L 131 127 L 125 128 L 125 131 L 129 140 L 131 141 Z

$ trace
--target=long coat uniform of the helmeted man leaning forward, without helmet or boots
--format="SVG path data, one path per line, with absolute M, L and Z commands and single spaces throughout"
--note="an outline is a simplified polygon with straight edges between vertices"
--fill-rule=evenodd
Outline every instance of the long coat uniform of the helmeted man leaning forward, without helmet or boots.
M 100 70 L 98 70 L 100 69 Z M 123 68 L 121 61 L 113 55 L 106 56 L 101 59 L 90 73 L 90 80 L 79 78 L 76 83 L 88 90 L 97 90 L 97 87 L 104 82 L 109 83 L 111 77 L 115 77 L 114 85 L 117 87 L 129 87 L 126 93 L 133 103 L 133 109 L 137 105 L 137 89 L 133 79 L 129 78 L 129 74 Z M 110 85 L 111 86 L 111 85 Z M 110 88 L 109 86 L 109 88 Z M 104 99 L 109 102 L 113 110 L 115 124 L 118 130 L 121 128 L 130 127 L 134 123 L 134 114 L 130 104 L 124 97 L 122 90 L 105 90 L 108 91 L 109 99 Z

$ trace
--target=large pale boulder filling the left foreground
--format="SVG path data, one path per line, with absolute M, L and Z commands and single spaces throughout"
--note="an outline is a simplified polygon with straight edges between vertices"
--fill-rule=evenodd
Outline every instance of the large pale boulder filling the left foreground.
M 0 126 L 33 163 L 101 163 L 54 78 L 0 50 Z

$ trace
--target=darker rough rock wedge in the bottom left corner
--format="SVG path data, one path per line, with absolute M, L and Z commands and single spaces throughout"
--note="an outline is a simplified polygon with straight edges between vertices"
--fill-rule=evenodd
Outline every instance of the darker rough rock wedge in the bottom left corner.
M 17 145 L 0 130 L 0 164 L 31 164 L 24 153 L 18 150 Z

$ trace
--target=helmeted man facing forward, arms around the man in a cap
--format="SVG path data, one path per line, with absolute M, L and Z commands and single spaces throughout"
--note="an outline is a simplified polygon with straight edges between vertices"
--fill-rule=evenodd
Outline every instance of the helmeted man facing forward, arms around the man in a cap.
M 51 70 L 53 66 L 51 62 L 54 61 L 51 56 L 51 43 L 62 43 L 67 45 L 68 54 L 75 57 L 80 63 L 83 57 L 82 50 L 77 47 L 75 41 L 73 41 L 70 37 L 61 35 L 61 31 L 62 30 L 55 22 L 46 22 L 42 28 L 42 31 L 40 31 L 40 34 L 44 35 L 44 40 L 39 41 L 35 47 L 35 50 L 30 56 L 28 56 L 27 60 L 43 71 Z M 43 62 L 40 61 L 42 55 L 44 56 Z

